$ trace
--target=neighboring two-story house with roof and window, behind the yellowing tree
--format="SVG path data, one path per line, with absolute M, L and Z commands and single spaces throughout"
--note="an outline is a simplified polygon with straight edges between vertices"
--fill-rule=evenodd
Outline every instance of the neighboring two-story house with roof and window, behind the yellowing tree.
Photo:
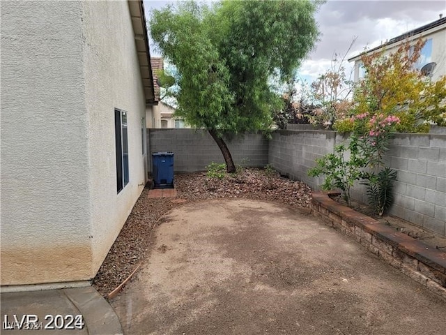
M 416 67 L 421 69 L 426 64 L 431 64 L 433 67 L 432 73 L 430 73 L 431 79 L 433 81 L 438 80 L 441 76 L 446 75 L 446 17 L 440 17 L 436 21 L 392 38 L 383 45 L 367 50 L 366 53 L 384 52 L 384 54 L 390 54 L 395 52 L 401 43 L 415 41 L 418 38 L 423 38 L 423 40 L 426 40 L 426 43 L 421 50 L 420 59 Z M 348 59 L 348 61 L 355 62 L 354 80 L 357 82 L 364 76 L 361 54 Z

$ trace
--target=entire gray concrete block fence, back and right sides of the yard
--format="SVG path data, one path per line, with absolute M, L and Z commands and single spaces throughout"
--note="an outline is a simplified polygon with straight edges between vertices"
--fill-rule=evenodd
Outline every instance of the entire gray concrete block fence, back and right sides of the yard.
M 254 167 L 270 163 L 318 190 L 323 178 L 308 177 L 307 170 L 316 165 L 316 158 L 345 142 L 346 137 L 334 131 L 286 130 L 275 131 L 270 140 L 261 134 L 238 137 L 228 147 L 236 163 Z M 150 153 L 173 151 L 176 172 L 206 170 L 212 161 L 224 162 L 217 144 L 203 130 L 149 129 L 148 148 Z M 151 154 L 148 160 L 151 166 Z M 446 236 L 446 134 L 395 134 L 385 160 L 398 173 L 390 214 Z M 364 186 L 355 187 L 352 196 L 367 202 Z

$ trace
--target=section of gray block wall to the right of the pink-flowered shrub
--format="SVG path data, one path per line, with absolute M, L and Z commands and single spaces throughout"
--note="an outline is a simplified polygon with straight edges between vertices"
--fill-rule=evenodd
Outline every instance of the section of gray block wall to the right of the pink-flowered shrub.
M 386 161 L 398 172 L 390 214 L 446 235 L 446 135 L 396 134 Z

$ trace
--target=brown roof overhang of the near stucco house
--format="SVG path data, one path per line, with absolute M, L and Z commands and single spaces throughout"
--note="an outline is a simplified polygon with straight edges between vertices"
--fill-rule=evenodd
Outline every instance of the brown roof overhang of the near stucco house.
M 128 7 L 132 17 L 134 43 L 137 47 L 141 80 L 144 87 L 144 95 L 146 96 L 146 105 L 157 105 L 157 101 L 155 100 L 155 87 L 153 85 L 151 52 L 148 44 L 144 4 L 141 0 L 128 0 Z

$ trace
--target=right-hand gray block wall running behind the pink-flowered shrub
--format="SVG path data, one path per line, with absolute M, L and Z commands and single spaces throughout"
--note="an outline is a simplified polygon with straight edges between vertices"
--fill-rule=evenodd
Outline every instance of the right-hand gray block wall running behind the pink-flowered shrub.
M 320 189 L 323 179 L 308 177 L 307 170 L 341 143 L 346 144 L 346 137 L 332 131 L 276 131 L 268 161 L 290 178 Z M 385 161 L 398 173 L 390 214 L 446 236 L 446 135 L 394 134 Z M 351 195 L 367 203 L 364 186 L 357 184 Z

